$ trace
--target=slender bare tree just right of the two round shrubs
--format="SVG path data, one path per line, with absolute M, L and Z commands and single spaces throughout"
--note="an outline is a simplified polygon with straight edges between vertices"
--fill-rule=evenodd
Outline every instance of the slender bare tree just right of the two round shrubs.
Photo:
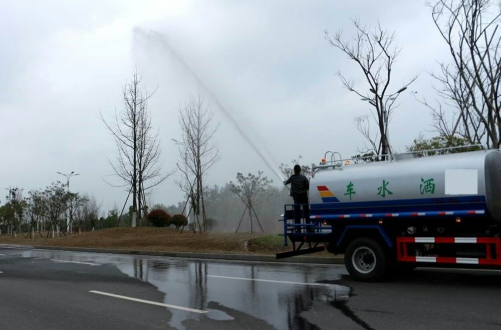
M 213 126 L 213 113 L 200 96 L 196 99 L 192 97 L 184 108 L 179 106 L 179 125 L 182 137 L 178 143 L 180 161 L 177 168 L 185 180 L 178 184 L 191 201 L 198 229 L 207 231 L 203 187 L 207 171 L 219 159 L 219 151 L 214 143 L 218 126 Z

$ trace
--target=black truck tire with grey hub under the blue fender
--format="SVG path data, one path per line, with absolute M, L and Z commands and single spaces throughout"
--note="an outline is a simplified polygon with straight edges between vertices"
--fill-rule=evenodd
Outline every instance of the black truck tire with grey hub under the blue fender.
M 346 269 L 357 281 L 375 282 L 386 271 L 387 257 L 381 245 L 371 238 L 357 238 L 346 248 Z

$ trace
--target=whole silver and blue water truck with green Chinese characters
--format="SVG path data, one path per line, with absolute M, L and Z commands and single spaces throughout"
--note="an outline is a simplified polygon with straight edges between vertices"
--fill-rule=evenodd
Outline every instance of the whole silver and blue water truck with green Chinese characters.
M 293 249 L 277 258 L 327 249 L 360 281 L 416 266 L 501 266 L 501 151 L 458 150 L 371 162 L 326 153 L 310 180 L 310 221 L 294 223 L 285 206 Z

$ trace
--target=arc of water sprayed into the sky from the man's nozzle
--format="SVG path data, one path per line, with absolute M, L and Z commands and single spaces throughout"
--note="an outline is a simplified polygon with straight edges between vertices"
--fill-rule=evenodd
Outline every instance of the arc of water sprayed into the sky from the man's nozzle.
M 210 97 L 212 97 L 214 103 L 216 106 L 221 110 L 223 115 L 230 121 L 230 123 L 235 127 L 237 132 L 242 136 L 245 141 L 256 151 L 256 153 L 259 155 L 259 157 L 265 162 L 266 166 L 277 176 L 277 178 L 280 179 L 280 182 L 284 180 L 279 167 L 276 165 L 275 161 L 272 161 L 270 159 L 273 159 L 271 156 L 267 156 L 264 154 L 262 151 L 263 148 L 258 148 L 258 146 L 253 142 L 252 139 L 243 131 L 243 129 L 240 127 L 236 119 L 233 117 L 231 112 L 219 101 L 219 99 L 215 96 L 215 94 L 207 87 L 206 84 L 204 84 L 201 79 L 198 77 L 198 75 L 193 71 L 193 69 L 179 56 L 179 54 L 170 46 L 170 44 L 167 42 L 166 37 L 156 31 L 146 31 L 141 28 L 134 28 L 134 37 L 143 37 L 146 40 L 153 40 L 156 42 L 160 42 L 163 46 L 165 46 L 168 51 L 172 54 L 172 56 L 183 66 L 183 68 L 190 73 L 190 75 L 195 79 L 197 84 L 208 94 Z M 135 38 L 134 38 L 135 39 Z

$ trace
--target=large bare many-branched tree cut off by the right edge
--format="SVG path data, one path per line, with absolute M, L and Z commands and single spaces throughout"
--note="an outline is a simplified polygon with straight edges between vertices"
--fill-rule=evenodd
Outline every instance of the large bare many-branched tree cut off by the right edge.
M 441 63 L 440 73 L 432 74 L 445 105 L 427 105 L 433 111 L 440 134 L 465 138 L 469 143 L 499 147 L 501 136 L 501 37 L 499 3 L 492 0 L 440 0 L 428 4 L 433 22 L 450 50 L 450 64 Z M 447 120 L 452 118 L 451 120 Z

